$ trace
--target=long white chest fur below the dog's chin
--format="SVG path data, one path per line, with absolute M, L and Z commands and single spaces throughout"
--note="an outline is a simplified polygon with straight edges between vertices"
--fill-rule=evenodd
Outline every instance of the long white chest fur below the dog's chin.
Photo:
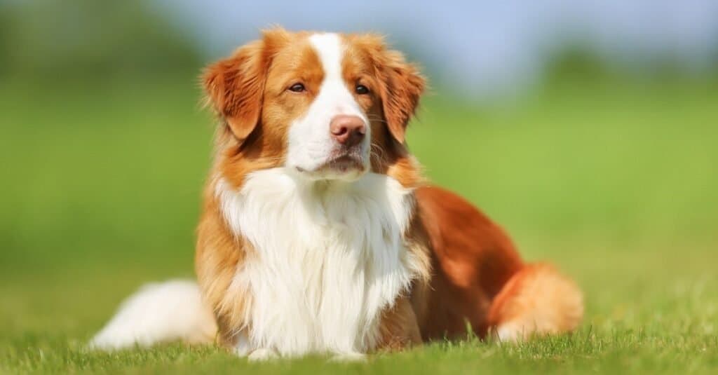
M 414 198 L 386 175 L 309 182 L 283 168 L 222 180 L 232 230 L 253 246 L 234 287 L 250 292 L 247 343 L 282 355 L 353 353 L 378 340 L 381 311 L 405 292 L 418 261 L 404 246 Z

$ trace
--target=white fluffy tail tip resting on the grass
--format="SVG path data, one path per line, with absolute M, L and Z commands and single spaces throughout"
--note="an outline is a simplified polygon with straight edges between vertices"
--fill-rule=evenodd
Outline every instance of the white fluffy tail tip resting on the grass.
M 90 347 L 113 350 L 175 340 L 211 343 L 216 333 L 215 318 L 197 283 L 170 280 L 146 284 L 125 300 Z

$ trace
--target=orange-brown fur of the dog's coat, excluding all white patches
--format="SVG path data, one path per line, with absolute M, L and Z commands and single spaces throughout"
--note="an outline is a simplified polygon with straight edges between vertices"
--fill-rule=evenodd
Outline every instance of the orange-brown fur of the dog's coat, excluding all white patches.
M 288 126 L 307 111 L 324 75 L 308 37 L 306 32 L 266 31 L 262 40 L 210 65 L 203 75 L 208 101 L 221 126 L 197 228 L 196 272 L 218 321 L 220 341 L 226 345 L 241 330 L 251 329 L 246 322 L 251 295 L 232 280 L 243 261 L 253 256 L 253 249 L 227 227 L 215 183 L 221 176 L 240 188 L 248 173 L 284 163 Z M 388 50 L 376 35 L 345 35 L 344 41 L 348 45 L 342 63 L 345 83 L 351 92 L 356 84 L 370 89 L 369 95 L 357 100 L 371 121 L 371 170 L 416 189 L 414 219 L 405 239 L 409 251 L 423 262 L 423 275 L 383 313 L 377 349 L 462 337 L 467 322 L 484 336 L 490 327 L 535 317 L 531 298 L 541 299 L 544 293 L 554 295 L 543 305 L 548 315 L 541 316 L 556 321 L 541 329 L 573 329 L 580 318 L 576 304 L 564 303 L 557 294 L 575 295 L 572 284 L 543 268 L 539 272 L 524 266 L 508 236 L 489 218 L 457 195 L 425 186 L 405 143 L 406 125 L 425 86 L 417 68 L 406 63 L 401 53 Z M 286 90 L 296 82 L 303 83 L 306 92 Z M 527 295 L 529 291 L 538 296 Z M 574 308 L 570 313 L 550 313 L 569 305 Z

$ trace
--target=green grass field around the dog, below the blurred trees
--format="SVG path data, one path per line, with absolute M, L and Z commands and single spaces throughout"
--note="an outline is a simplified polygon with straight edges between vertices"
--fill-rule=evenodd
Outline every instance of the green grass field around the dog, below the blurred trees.
M 0 86 L 0 372 L 717 371 L 718 92 L 695 84 L 500 106 L 434 94 L 411 126 L 432 180 L 581 284 L 574 335 L 434 343 L 366 364 L 248 364 L 179 344 L 85 351 L 140 284 L 192 276 L 213 129 L 185 81 Z

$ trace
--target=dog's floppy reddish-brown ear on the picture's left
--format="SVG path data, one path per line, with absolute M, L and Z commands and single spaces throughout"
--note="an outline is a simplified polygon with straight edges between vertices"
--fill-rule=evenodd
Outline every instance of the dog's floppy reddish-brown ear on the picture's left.
M 276 48 L 288 40 L 289 33 L 276 28 L 264 31 L 263 36 L 202 73 L 208 103 L 239 142 L 259 123 L 267 70 Z

